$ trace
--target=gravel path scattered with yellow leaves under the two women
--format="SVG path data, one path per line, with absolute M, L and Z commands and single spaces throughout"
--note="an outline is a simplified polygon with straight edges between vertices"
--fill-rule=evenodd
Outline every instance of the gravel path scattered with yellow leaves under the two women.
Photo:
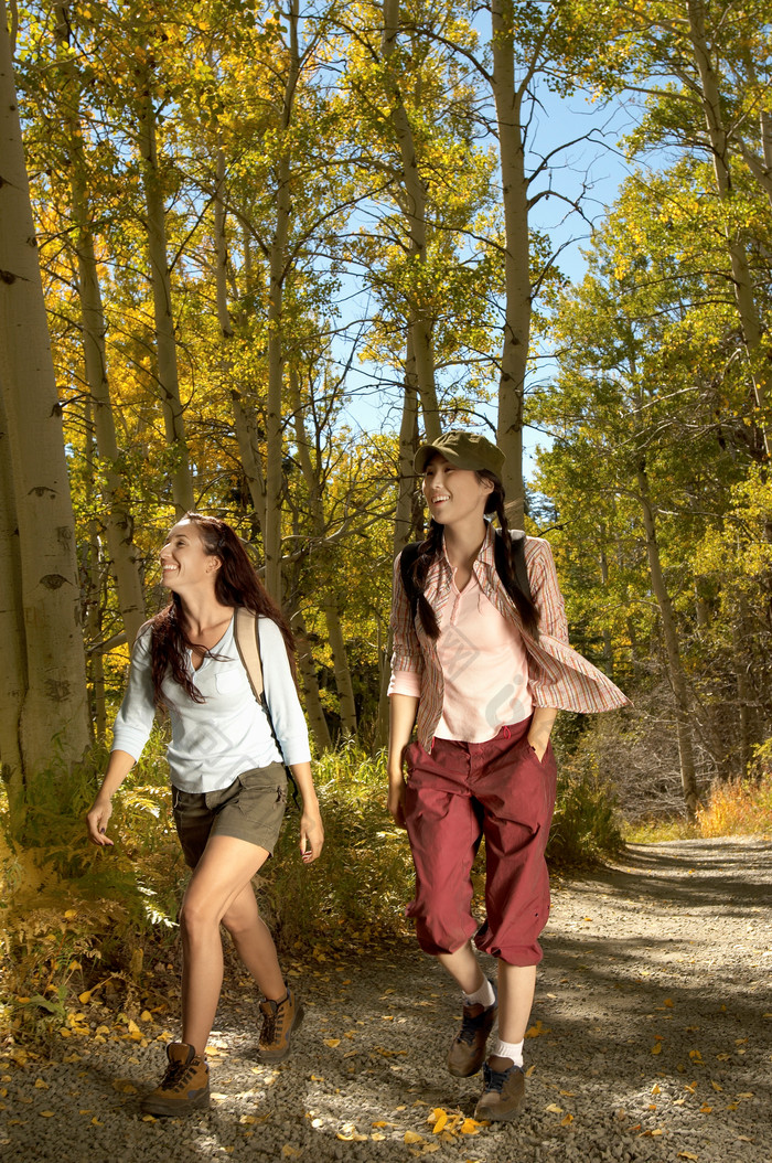
M 771 855 L 758 840 L 631 846 L 613 868 L 555 886 L 527 1106 L 513 1123 L 460 1133 L 480 1084 L 444 1068 L 458 998 L 406 941 L 291 970 L 307 1014 L 278 1068 L 256 1062 L 252 1007 L 229 990 L 203 1115 L 143 1120 L 137 1096 L 163 1069 L 153 1021 L 133 1030 L 113 1014 L 96 1039 L 74 1033 L 51 1058 L 3 1054 L 0 1155 L 770 1163 Z M 434 1134 L 439 1111 L 449 1119 Z

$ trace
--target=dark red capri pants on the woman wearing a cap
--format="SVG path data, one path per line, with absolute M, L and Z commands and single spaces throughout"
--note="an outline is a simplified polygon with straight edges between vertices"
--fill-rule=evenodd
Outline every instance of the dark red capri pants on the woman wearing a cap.
M 487 743 L 435 739 L 406 752 L 405 819 L 415 865 L 421 948 L 456 952 L 470 937 L 510 965 L 542 959 L 538 935 L 550 912 L 544 849 L 555 809 L 557 768 L 550 744 L 539 761 L 527 740 L 530 719 L 502 727 Z M 471 870 L 485 836 L 485 906 L 471 913 Z

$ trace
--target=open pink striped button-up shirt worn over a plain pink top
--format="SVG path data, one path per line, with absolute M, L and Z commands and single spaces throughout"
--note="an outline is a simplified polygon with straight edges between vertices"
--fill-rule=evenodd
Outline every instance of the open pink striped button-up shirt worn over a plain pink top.
M 502 616 L 507 627 L 516 632 L 516 640 L 522 642 L 528 666 L 528 690 L 534 706 L 557 707 L 563 711 L 613 711 L 626 706 L 629 699 L 616 687 L 602 671 L 593 666 L 569 645 L 569 630 L 565 618 L 563 595 L 558 585 L 552 550 L 541 537 L 526 538 L 526 564 L 530 582 L 531 595 L 539 613 L 539 636 L 534 640 L 522 627 L 520 615 L 512 602 L 495 571 L 493 552 L 493 528 L 488 526 L 487 535 L 478 555 L 473 570 L 473 579 L 482 591 L 484 597 Z M 470 583 L 471 585 L 471 583 Z M 464 593 L 466 593 L 465 587 Z M 453 571 L 446 555 L 434 562 L 426 584 L 426 597 L 431 604 L 437 621 L 443 627 L 448 623 L 446 608 L 453 600 Z M 399 557 L 394 563 L 394 600 L 392 604 L 392 629 L 394 634 L 394 654 L 392 657 L 392 686 L 389 693 L 419 693 L 417 736 L 422 747 L 430 751 L 445 711 L 445 669 L 443 659 L 442 633 L 438 642 L 427 637 L 421 619 L 410 618 L 410 607 L 399 568 Z M 513 641 L 510 638 L 510 641 Z M 477 649 L 477 643 L 474 644 Z M 443 665 L 444 663 L 444 665 Z M 512 651 L 512 680 L 516 683 L 517 650 Z M 410 682 L 407 676 L 417 679 Z M 501 670 L 498 666 L 493 676 L 494 684 L 500 683 Z M 466 686 L 469 700 L 470 686 Z M 472 684 L 474 704 L 485 708 L 496 695 L 489 683 L 480 687 L 480 682 Z M 452 707 L 451 707 L 452 712 Z M 482 709 L 485 716 L 485 709 Z M 495 733 L 494 733 L 495 734 Z M 444 730 L 443 730 L 444 735 Z M 444 736 L 453 737 L 453 736 Z M 491 737 L 491 736 L 488 736 Z M 466 740 L 473 742 L 473 740 Z

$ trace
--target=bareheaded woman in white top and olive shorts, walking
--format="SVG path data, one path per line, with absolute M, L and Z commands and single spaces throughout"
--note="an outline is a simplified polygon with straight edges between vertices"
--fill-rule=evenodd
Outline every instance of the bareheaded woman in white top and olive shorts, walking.
M 137 635 L 113 750 L 87 826 L 93 843 L 113 843 L 107 836 L 113 795 L 140 758 L 156 711 L 167 709 L 174 823 L 193 871 L 179 916 L 181 1037 L 166 1048 L 166 1073 L 142 1106 L 150 1114 L 176 1115 L 209 1103 L 206 1046 L 222 987 L 221 923 L 264 996 L 263 1061 L 286 1057 L 302 1018 L 251 885 L 281 827 L 285 764 L 302 795 L 305 863 L 320 855 L 324 832 L 294 683 L 292 633 L 244 547 L 219 518 L 187 513 L 159 556 L 171 601 Z M 238 611 L 255 619 L 265 701 L 256 698 L 241 658 Z

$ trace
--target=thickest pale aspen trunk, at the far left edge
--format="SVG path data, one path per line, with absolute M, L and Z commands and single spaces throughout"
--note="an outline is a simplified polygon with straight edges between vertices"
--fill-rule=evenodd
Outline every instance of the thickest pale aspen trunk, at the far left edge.
M 74 520 L 3 0 L 0 271 L 3 444 L 19 522 L 16 618 L 24 626 L 27 679 L 17 733 L 0 741 L 0 751 L 3 764 L 6 755 L 9 762 L 21 755 L 23 790 L 16 804 L 28 804 L 38 773 L 59 765 L 66 771 L 83 756 L 91 734 Z

